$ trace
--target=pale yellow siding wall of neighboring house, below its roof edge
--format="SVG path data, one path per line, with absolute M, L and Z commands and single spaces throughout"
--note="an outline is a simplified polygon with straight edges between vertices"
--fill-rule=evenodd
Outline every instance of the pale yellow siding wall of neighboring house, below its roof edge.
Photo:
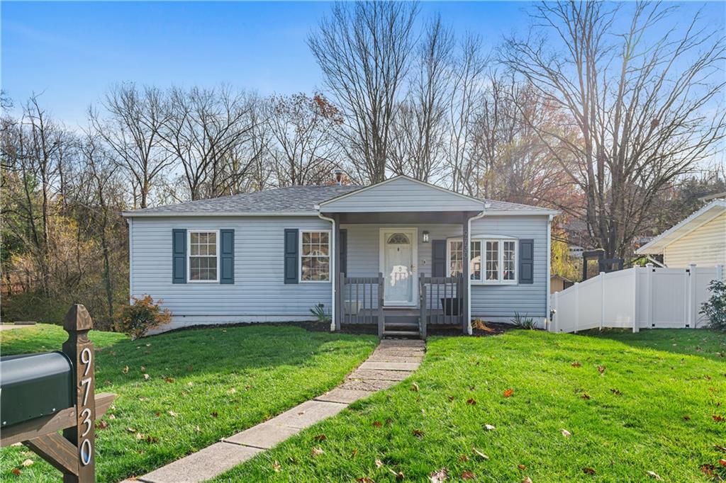
M 726 265 L 726 212 L 666 246 L 663 257 L 672 268 Z

